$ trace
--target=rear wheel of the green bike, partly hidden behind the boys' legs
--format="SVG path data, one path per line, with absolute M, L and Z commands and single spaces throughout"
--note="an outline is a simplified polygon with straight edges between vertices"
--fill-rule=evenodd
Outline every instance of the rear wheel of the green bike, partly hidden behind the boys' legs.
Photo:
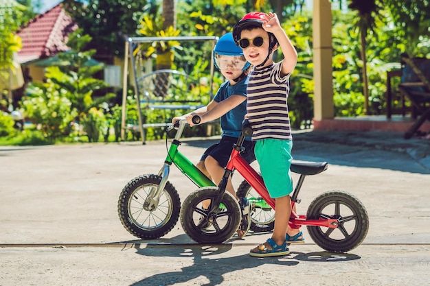
M 273 211 L 273 208 L 264 202 L 257 191 L 253 189 L 246 180 L 240 183 L 236 195 L 238 195 L 238 197 L 247 198 L 251 202 L 257 201 L 252 204 L 251 227 L 249 229 L 254 233 L 273 230 L 275 227 L 275 211 Z

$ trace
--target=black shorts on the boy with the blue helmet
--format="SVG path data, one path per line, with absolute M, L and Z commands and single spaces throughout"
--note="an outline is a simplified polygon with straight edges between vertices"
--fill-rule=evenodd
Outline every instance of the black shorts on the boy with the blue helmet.
M 200 160 L 205 160 L 207 156 L 212 156 L 218 162 L 218 164 L 224 168 L 229 162 L 233 145 L 234 143 L 237 143 L 237 141 L 238 139 L 235 137 L 222 136 L 218 143 L 207 148 Z M 256 155 L 254 154 L 254 145 L 256 145 L 256 143 L 253 141 L 243 141 L 242 146 L 245 147 L 245 152 L 240 153 L 240 156 L 242 156 L 242 158 L 244 158 L 248 164 L 251 164 L 254 160 L 256 160 Z

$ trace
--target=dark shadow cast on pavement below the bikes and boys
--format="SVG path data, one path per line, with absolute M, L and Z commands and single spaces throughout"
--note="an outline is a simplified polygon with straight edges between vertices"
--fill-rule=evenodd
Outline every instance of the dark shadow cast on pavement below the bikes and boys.
M 231 244 L 216 246 L 189 245 L 181 247 L 166 247 L 162 245 L 146 246 L 145 248 L 135 247 L 137 254 L 146 257 L 192 257 L 192 265 L 175 269 L 171 272 L 155 274 L 142 281 L 133 283 L 133 286 L 139 285 L 175 285 L 177 283 L 186 283 L 199 276 L 207 278 L 208 283 L 201 285 L 220 285 L 223 283 L 223 274 L 235 272 L 237 270 L 251 270 L 264 264 L 277 264 L 284 266 L 294 266 L 299 261 L 318 261 L 318 262 L 339 262 L 360 259 L 355 254 L 330 254 L 328 252 L 291 252 L 285 257 L 267 257 L 255 258 L 249 257 L 249 254 L 225 257 L 226 252 L 231 252 Z M 224 254 L 220 257 L 220 254 Z M 258 270 L 256 270 L 258 273 Z M 240 278 L 238 278 L 240 279 Z

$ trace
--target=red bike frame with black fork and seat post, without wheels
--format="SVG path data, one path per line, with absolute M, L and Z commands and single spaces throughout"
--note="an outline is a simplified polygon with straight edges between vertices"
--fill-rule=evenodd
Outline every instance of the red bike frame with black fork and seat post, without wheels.
M 271 198 L 269 192 L 267 191 L 266 186 L 264 185 L 264 181 L 262 176 L 255 171 L 251 165 L 249 165 L 243 158 L 240 156 L 240 152 L 242 152 L 242 143 L 245 136 L 243 134 L 240 135 L 238 139 L 238 143 L 234 145 L 233 150 L 231 151 L 230 160 L 225 167 L 225 174 L 223 179 L 221 180 L 218 189 L 220 193 L 225 192 L 225 187 L 227 186 L 227 180 L 231 174 L 233 174 L 234 170 L 237 170 L 239 174 L 247 180 L 247 182 L 257 191 L 259 195 L 275 210 L 275 199 Z M 306 215 L 297 215 L 293 211 L 293 207 L 297 202 L 297 195 L 299 194 L 300 189 L 302 188 L 302 184 L 304 182 L 304 178 L 306 175 L 300 174 L 299 180 L 295 186 L 293 191 L 293 195 L 291 196 L 291 216 L 288 224 L 291 228 L 300 228 L 300 226 L 325 226 L 327 228 L 337 228 L 338 221 L 337 219 L 306 219 Z M 222 196 L 219 196 L 218 200 L 222 199 Z M 218 206 L 219 202 L 215 200 L 214 206 Z M 216 207 L 214 207 L 216 208 Z

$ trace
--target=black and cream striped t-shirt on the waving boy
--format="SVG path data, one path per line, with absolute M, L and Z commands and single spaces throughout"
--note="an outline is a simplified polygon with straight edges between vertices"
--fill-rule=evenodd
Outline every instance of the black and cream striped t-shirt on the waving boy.
M 253 141 L 293 139 L 286 104 L 290 74 L 281 78 L 281 68 L 282 61 L 251 70 L 247 86 L 247 115 L 253 130 Z

